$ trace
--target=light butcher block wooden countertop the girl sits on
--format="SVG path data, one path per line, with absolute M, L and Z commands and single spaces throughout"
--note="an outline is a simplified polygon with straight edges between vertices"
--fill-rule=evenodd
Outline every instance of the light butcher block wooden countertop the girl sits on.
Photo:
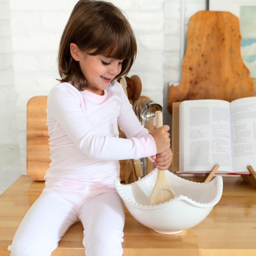
M 184 177 L 183 177 L 184 178 Z M 201 182 L 201 177 L 186 177 Z M 39 197 L 44 182 L 20 176 L 0 196 L 0 255 L 24 215 Z M 255 256 L 256 189 L 240 176 L 223 177 L 223 195 L 208 217 L 176 235 L 158 234 L 137 222 L 125 208 L 123 256 Z M 82 225 L 77 222 L 59 242 L 53 256 L 82 256 Z

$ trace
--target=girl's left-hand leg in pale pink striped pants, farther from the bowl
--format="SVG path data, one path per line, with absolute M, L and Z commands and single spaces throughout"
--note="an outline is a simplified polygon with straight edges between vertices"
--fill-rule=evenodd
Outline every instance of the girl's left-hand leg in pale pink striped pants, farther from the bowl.
M 45 191 L 31 206 L 8 247 L 11 256 L 50 256 L 76 221 L 74 206 L 56 191 Z

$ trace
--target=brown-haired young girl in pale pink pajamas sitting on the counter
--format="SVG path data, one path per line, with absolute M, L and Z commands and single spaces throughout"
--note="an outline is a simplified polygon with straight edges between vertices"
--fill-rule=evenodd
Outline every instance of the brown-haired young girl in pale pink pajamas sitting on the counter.
M 11 256 L 49 256 L 77 221 L 87 256 L 122 255 L 124 210 L 114 187 L 120 159 L 152 156 L 167 169 L 169 126 L 149 132 L 122 86 L 136 56 L 133 30 L 111 3 L 80 0 L 63 31 L 61 79 L 47 101 L 51 163 L 45 188 L 20 224 Z M 118 125 L 127 139 L 119 138 Z

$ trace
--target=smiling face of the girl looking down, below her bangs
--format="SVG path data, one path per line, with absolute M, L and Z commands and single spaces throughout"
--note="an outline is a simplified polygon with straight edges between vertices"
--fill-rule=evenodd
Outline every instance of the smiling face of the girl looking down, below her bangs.
M 98 95 L 104 95 L 103 90 L 121 72 L 122 61 L 103 55 L 89 55 L 80 52 L 79 64 L 87 81 L 85 89 Z

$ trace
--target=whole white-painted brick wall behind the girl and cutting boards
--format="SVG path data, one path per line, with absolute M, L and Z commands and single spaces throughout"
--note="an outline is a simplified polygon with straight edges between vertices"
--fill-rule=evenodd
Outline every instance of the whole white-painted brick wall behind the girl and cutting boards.
M 142 94 L 164 104 L 168 82 L 179 82 L 181 4 L 185 27 L 189 17 L 205 9 L 206 0 L 110 0 L 124 10 L 138 43 L 130 74 L 142 80 Z M 57 83 L 59 39 L 76 0 L 0 0 L 1 141 L 0 148 L 15 148 L 13 168 L 26 173 L 26 104 L 34 95 L 47 95 Z M 184 40 L 184 39 L 183 39 Z M 11 95 L 11 96 L 10 96 Z M 19 149 L 19 151 L 18 151 Z M 0 156 L 2 166 L 9 166 Z

